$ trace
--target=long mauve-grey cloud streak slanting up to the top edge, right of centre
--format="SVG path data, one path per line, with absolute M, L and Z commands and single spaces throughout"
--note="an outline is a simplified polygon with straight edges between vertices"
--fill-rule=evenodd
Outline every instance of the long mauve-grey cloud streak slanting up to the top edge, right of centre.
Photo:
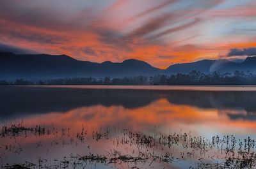
M 182 24 L 181 26 L 172 27 L 165 31 L 161 31 L 160 33 L 154 34 L 152 36 L 146 37 L 146 41 L 152 41 L 154 43 L 154 39 L 164 36 L 166 34 L 173 33 L 175 31 L 182 31 L 188 27 L 194 26 L 199 22 L 202 22 L 203 19 L 200 18 L 202 13 L 211 10 L 214 6 L 217 6 L 220 3 L 223 3 L 224 0 L 213 0 L 213 1 L 202 1 L 200 4 L 193 4 L 183 8 L 182 10 L 174 10 L 168 13 L 162 13 L 157 17 L 153 17 L 147 20 L 144 24 L 142 24 L 137 29 L 134 29 L 130 34 L 125 36 L 125 40 L 130 40 L 133 38 L 145 38 L 145 36 L 152 35 L 155 32 L 161 30 L 164 26 L 172 26 L 173 24 L 177 24 L 179 22 L 184 22 L 184 20 L 191 20 L 187 21 L 187 23 Z M 166 1 L 166 4 L 174 3 L 176 1 Z M 164 3 L 162 3 L 164 4 Z M 152 11 L 157 10 L 158 8 L 164 8 L 162 4 L 156 6 L 156 9 L 152 8 Z M 204 10 L 195 10 L 196 8 L 204 8 Z M 195 11 L 194 11 L 195 10 Z M 148 13 L 151 11 L 149 10 Z M 147 14 L 147 11 L 145 11 Z M 156 41 L 155 41 L 156 42 Z

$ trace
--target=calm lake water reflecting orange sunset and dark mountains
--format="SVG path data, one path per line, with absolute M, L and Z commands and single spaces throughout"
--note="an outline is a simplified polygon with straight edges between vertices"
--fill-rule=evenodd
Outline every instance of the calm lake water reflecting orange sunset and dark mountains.
M 166 146 L 159 137 L 186 133 L 205 140 L 217 135 L 236 136 L 237 142 L 256 138 L 256 87 L 2 86 L 0 96 L 1 126 L 45 129 L 2 136 L 2 167 L 33 163 L 31 168 L 198 168 L 202 161 L 221 163 L 224 155 L 210 146 L 203 153 L 184 149 L 188 140 L 181 138 Z M 138 133 L 152 136 L 156 143 L 136 142 Z M 151 155 L 143 163 L 79 159 L 118 153 L 144 154 L 143 159 Z M 173 161 L 154 160 L 152 154 L 168 154 Z

